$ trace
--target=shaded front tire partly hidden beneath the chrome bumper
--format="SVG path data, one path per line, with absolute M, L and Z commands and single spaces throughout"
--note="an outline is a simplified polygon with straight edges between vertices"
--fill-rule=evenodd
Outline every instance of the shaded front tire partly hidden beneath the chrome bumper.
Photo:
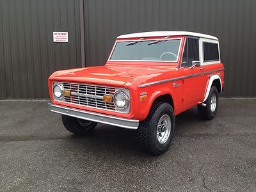
M 62 122 L 64 127 L 69 131 L 77 135 L 87 134 L 92 132 L 96 127 L 97 122 L 91 122 L 72 116 L 62 115 Z

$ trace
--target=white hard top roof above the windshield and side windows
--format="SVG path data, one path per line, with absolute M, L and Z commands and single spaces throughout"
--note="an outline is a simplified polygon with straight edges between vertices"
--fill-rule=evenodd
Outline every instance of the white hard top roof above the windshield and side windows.
M 177 35 L 198 36 L 198 37 L 218 40 L 216 36 L 205 35 L 202 33 L 188 32 L 188 31 L 150 31 L 150 32 L 120 35 L 117 38 L 138 38 L 138 37 L 142 38 L 142 37 L 150 37 L 150 36 L 177 36 Z

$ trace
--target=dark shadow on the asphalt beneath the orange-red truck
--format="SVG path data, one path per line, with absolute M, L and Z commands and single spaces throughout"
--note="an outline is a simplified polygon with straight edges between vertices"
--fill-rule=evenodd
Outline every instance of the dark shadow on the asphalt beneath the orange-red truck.
M 173 140 L 175 141 L 177 134 L 189 129 L 191 125 L 200 121 L 202 120 L 198 117 L 196 108 L 189 109 L 178 115 L 176 117 Z M 76 136 L 72 134 L 64 138 L 64 140 L 68 142 L 63 143 L 63 145 L 67 144 L 70 150 L 82 148 L 81 152 L 83 152 L 84 155 L 93 153 L 95 156 L 100 156 L 100 154 L 104 152 L 106 154 L 122 154 L 125 158 L 127 156 L 145 156 L 148 158 L 148 154 L 141 151 L 137 134 L 134 130 L 99 124 L 92 133 L 86 136 Z

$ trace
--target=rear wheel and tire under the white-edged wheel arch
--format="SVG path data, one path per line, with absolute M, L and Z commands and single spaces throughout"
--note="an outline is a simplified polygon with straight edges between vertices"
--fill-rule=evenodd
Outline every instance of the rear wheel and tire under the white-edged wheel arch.
M 211 120 L 216 115 L 219 104 L 219 95 L 216 86 L 211 87 L 210 93 L 204 104 L 206 104 L 205 107 L 201 105 L 197 106 L 198 115 L 203 119 Z

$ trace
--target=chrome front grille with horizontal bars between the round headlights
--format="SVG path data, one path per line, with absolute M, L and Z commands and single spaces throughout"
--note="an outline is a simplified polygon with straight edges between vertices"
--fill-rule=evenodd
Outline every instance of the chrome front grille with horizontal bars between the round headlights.
M 92 108 L 115 111 L 113 102 L 105 102 L 103 95 L 114 95 L 116 89 L 92 84 L 63 83 L 64 90 L 70 91 L 70 96 L 64 96 L 64 101 Z

